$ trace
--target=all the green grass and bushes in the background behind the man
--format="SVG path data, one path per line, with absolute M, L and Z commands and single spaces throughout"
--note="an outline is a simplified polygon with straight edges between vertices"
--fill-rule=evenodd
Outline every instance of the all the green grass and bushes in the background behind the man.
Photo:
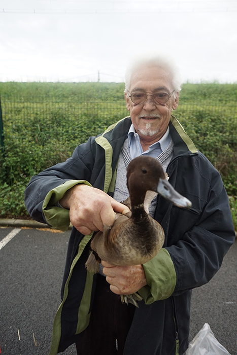
M 90 135 L 129 115 L 123 90 L 123 83 L 0 83 L 5 139 L 0 157 L 2 216 L 25 214 L 22 192 L 31 175 L 65 160 Z M 237 84 L 187 83 L 174 112 L 196 147 L 220 171 L 233 214 L 236 102 Z M 15 203 L 12 199 L 18 194 L 21 201 Z

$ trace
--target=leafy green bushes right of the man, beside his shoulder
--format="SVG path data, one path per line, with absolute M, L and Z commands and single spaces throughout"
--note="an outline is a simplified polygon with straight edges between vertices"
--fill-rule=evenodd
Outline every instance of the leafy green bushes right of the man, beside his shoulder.
M 237 195 L 237 114 L 225 116 L 208 107 L 176 115 L 198 150 L 221 173 L 227 193 Z

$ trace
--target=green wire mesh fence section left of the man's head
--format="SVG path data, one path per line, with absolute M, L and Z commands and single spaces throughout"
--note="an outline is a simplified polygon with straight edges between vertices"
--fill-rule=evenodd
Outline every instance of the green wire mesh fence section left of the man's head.
M 128 114 L 123 100 L 2 96 L 1 102 L 2 147 L 15 139 L 22 145 L 27 141 L 39 146 L 47 144 L 50 151 L 63 144 L 65 152 L 71 152 L 75 144 L 83 143 L 89 135 L 99 134 Z

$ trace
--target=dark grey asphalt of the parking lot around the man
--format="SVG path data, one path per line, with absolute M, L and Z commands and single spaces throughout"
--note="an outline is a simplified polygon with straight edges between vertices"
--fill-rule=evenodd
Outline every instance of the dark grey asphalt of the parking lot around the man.
M 0 228 L 0 243 L 12 230 Z M 0 250 L 2 355 L 48 354 L 69 236 L 70 232 L 21 229 Z M 236 256 L 237 239 L 215 277 L 193 290 L 191 304 L 190 340 L 209 323 L 231 355 L 237 355 Z M 75 346 L 62 354 L 76 354 Z

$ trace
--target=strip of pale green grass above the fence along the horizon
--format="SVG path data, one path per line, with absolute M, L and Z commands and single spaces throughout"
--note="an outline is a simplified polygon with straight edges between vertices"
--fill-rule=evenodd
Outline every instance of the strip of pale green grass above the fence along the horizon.
M 124 83 L 17 83 L 0 82 L 0 94 L 7 96 L 53 96 L 61 98 L 95 97 L 100 99 L 122 99 Z M 201 100 L 212 104 L 212 100 L 226 104 L 236 102 L 237 84 L 183 84 L 180 92 L 183 101 Z

